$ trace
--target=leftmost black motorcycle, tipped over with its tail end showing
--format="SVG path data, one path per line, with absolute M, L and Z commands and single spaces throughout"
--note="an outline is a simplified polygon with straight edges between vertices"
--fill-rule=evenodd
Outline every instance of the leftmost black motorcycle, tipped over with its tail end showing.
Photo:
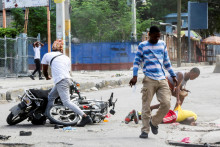
M 7 123 L 15 125 L 28 119 L 34 125 L 44 125 L 46 123 L 44 112 L 49 92 L 50 90 L 25 90 L 22 96 L 18 96 L 21 102 L 10 109 Z

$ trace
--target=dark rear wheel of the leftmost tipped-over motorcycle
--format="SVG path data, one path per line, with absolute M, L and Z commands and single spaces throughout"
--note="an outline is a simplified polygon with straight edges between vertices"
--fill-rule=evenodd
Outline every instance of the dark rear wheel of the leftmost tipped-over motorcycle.
M 23 120 L 25 120 L 27 118 L 27 116 L 24 116 L 22 114 L 18 114 L 16 116 L 14 116 L 14 114 L 12 114 L 12 112 L 8 115 L 6 121 L 9 125 L 16 125 L 20 122 L 22 122 Z

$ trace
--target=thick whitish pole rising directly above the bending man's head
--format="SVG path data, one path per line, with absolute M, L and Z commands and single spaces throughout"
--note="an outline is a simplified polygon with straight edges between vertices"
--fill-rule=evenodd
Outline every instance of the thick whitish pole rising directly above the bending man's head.
M 64 1 L 54 0 L 56 3 L 56 39 L 63 40 L 63 53 L 66 54 Z

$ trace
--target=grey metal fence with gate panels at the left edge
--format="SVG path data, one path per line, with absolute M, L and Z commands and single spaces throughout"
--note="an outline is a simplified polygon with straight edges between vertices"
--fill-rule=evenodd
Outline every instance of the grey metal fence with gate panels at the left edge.
M 28 60 L 33 60 L 33 54 L 28 51 L 37 38 L 21 34 L 16 38 L 0 38 L 0 77 L 27 76 Z

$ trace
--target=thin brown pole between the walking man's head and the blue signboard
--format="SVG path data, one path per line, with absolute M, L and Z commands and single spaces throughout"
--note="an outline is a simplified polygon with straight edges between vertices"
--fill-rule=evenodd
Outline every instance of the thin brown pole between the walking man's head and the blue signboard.
M 181 0 L 177 0 L 177 67 L 181 67 Z

